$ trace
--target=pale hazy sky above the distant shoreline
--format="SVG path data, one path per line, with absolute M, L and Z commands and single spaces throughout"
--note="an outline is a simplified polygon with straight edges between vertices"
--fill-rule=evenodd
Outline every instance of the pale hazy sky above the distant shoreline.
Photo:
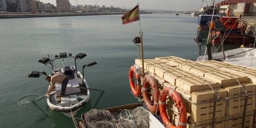
M 56 0 L 40 0 L 56 5 Z M 69 0 L 72 5 L 76 5 L 76 0 Z M 204 0 L 210 1 L 210 0 Z M 218 0 L 220 1 L 220 0 Z M 140 9 L 158 10 L 199 10 L 202 0 L 77 0 L 77 4 L 105 5 L 107 7 L 131 8 L 139 2 Z

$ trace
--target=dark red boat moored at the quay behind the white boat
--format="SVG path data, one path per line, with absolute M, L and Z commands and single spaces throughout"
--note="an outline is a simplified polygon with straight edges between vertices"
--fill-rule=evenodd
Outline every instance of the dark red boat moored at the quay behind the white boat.
M 246 34 L 247 24 L 238 17 L 221 17 L 215 21 L 215 29 L 211 31 L 211 43 L 239 44 L 248 46 L 253 38 Z

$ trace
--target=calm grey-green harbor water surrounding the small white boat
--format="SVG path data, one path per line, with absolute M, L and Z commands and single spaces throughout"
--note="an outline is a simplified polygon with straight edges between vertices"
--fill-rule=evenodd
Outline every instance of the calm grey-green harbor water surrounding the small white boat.
M 174 55 L 195 59 L 198 56 L 197 17 L 190 15 L 141 15 L 145 58 Z M 17 105 L 25 95 L 45 95 L 44 78 L 27 78 L 32 70 L 48 71 L 38 60 L 51 53 L 87 54 L 79 62 L 98 64 L 85 69 L 88 85 L 108 89 L 98 104 L 100 92 L 91 91 L 90 108 L 108 108 L 135 103 L 130 94 L 128 71 L 137 58 L 132 42 L 139 36 L 139 22 L 122 25 L 121 15 L 16 18 L 0 20 L 0 126 L 1 127 L 74 127 L 72 119 L 49 111 L 43 98 L 30 105 Z M 69 62 L 66 62 L 69 63 Z

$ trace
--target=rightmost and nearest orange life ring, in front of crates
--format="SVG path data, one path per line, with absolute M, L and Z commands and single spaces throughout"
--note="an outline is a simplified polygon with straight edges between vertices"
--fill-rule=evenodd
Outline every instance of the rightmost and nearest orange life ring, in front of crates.
M 171 87 L 166 87 L 161 91 L 160 100 L 159 100 L 159 109 L 161 118 L 166 126 L 166 128 L 176 128 L 166 113 L 166 97 L 169 95 L 177 106 L 177 110 L 179 111 L 179 124 L 177 128 L 186 128 L 187 127 L 187 110 L 186 106 L 184 105 L 181 96 L 176 92 L 176 90 L 172 89 Z

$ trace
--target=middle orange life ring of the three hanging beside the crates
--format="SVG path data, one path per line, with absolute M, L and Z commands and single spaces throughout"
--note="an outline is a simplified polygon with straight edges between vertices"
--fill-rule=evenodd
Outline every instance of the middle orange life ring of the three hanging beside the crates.
M 149 86 L 151 86 L 151 89 L 153 89 L 153 100 L 154 100 L 153 105 L 152 105 L 151 98 L 148 91 Z M 143 90 L 143 100 L 148 110 L 151 113 L 156 113 L 156 111 L 158 111 L 156 109 L 158 108 L 158 100 L 160 95 L 160 91 L 158 90 L 158 82 L 156 81 L 155 78 L 147 74 L 143 78 L 142 90 Z

